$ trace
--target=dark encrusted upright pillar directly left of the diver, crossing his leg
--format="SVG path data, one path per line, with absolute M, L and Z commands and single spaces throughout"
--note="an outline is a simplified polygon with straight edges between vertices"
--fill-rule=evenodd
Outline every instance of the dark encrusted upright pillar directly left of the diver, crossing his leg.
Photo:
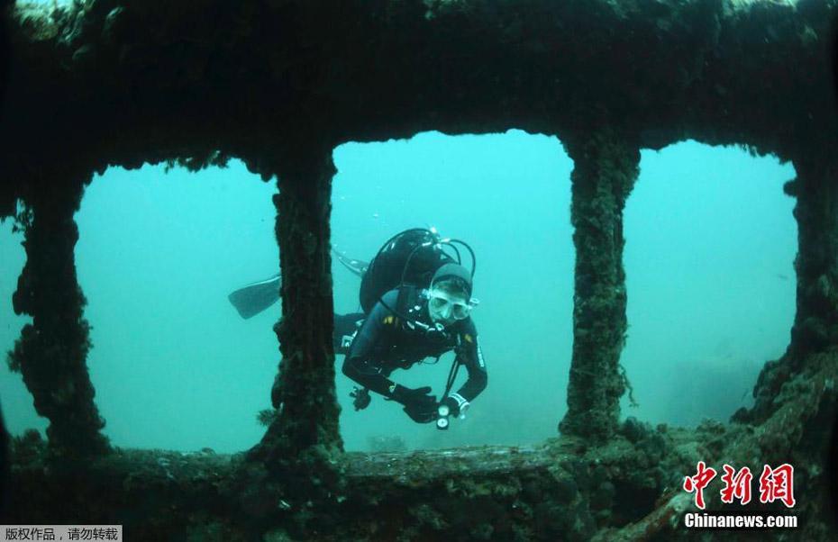
M 329 253 L 334 173 L 331 149 L 319 148 L 300 150 L 283 160 L 278 171 L 274 203 L 282 318 L 275 331 L 282 360 L 271 397 L 278 415 L 260 444 L 260 456 L 271 463 L 305 464 L 306 454 L 319 462 L 342 451 L 334 390 Z

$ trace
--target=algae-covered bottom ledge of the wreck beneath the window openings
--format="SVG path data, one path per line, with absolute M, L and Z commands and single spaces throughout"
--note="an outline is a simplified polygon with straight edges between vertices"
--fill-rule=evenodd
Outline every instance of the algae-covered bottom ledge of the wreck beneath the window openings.
M 537 447 L 345 454 L 342 501 L 311 519 L 331 530 L 320 536 L 295 536 L 296 503 L 264 478 L 242 479 L 242 469 L 255 469 L 238 454 L 119 449 L 86 472 L 45 471 L 37 433 L 23 435 L 14 439 L 16 498 L 5 519 L 49 523 L 60 510 L 123 523 L 132 540 L 694 540 L 680 515 L 684 498 L 686 511 L 697 510 L 695 495 L 681 484 L 697 461 L 719 471 L 724 463 L 759 469 L 788 461 L 797 504 L 782 513 L 799 518 L 793 539 L 831 542 L 821 454 L 838 399 L 838 351 L 807 361 L 806 375 L 759 427 L 708 421 L 651 429 L 626 420 L 604 446 L 557 438 Z M 704 492 L 707 510 L 725 510 L 721 478 Z M 778 506 L 754 498 L 747 509 L 734 501 L 726 510 L 787 510 Z

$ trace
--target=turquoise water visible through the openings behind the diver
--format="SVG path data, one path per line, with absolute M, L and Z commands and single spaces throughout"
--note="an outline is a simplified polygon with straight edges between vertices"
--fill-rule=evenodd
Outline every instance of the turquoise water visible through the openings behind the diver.
M 572 162 L 558 140 L 521 131 L 420 134 L 335 149 L 332 241 L 369 259 L 398 230 L 433 225 L 478 254 L 474 312 L 489 385 L 449 431 L 417 425 L 374 397 L 356 412 L 338 371 L 347 449 L 378 436 L 408 447 L 525 444 L 556 435 L 572 344 Z M 686 142 L 643 151 L 625 209 L 628 342 L 633 384 L 624 415 L 695 424 L 750 404 L 765 360 L 788 344 L 795 310 L 794 176 L 775 158 Z M 197 174 L 113 168 L 77 213 L 79 282 L 94 348 L 88 358 L 105 433 L 121 447 L 231 452 L 263 428 L 278 365 L 275 305 L 242 321 L 232 290 L 278 270 L 270 196 L 241 163 Z M 11 295 L 22 237 L 0 225 L 0 349 L 26 318 Z M 338 312 L 358 308 L 360 281 L 333 267 Z M 393 375 L 441 393 L 451 357 Z M 342 357 L 337 360 L 338 368 Z M 464 375 L 461 375 L 462 378 Z M 0 368 L 13 434 L 44 429 L 21 376 Z

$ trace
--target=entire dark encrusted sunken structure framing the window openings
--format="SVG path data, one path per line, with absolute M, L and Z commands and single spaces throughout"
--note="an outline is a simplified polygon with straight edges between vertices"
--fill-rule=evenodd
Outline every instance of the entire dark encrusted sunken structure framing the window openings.
M 733 534 L 833 539 L 824 465 L 838 401 L 834 0 L 12 4 L 3 2 L 0 216 L 24 230 L 14 309 L 33 321 L 9 359 L 50 429 L 47 443 L 14 438 L 4 523 L 123 523 L 138 540 L 669 540 L 694 537 L 679 523 L 693 506 L 681 484 L 703 460 L 795 465 L 799 528 Z M 561 435 L 528 448 L 342 453 L 331 149 L 509 128 L 556 136 L 575 162 Z M 639 150 L 685 139 L 797 168 L 786 185 L 797 198 L 795 322 L 754 408 L 731 423 L 621 423 L 624 201 Z M 107 167 L 199 169 L 233 157 L 280 188 L 278 416 L 247 454 L 113 449 L 85 366 L 73 263 L 82 189 Z M 706 490 L 710 510 L 728 506 L 718 482 Z

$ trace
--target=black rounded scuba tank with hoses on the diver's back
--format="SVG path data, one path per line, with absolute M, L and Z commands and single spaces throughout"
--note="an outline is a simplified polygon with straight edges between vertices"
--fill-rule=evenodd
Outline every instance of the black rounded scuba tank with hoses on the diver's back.
M 476 260 L 469 245 L 458 239 L 442 239 L 433 228 L 412 228 L 387 239 L 361 279 L 363 312 L 369 314 L 381 296 L 395 288 L 410 285 L 422 290 L 429 287 L 437 269 L 448 263 L 461 263 L 457 245 L 468 249 L 471 276 L 474 276 Z

